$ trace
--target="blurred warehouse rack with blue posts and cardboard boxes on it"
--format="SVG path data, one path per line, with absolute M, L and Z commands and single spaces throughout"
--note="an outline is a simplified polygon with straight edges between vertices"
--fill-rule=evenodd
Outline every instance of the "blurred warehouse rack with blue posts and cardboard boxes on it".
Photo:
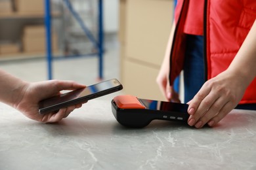
M 2 30 L 0 34 L 1 35 L 0 61 L 12 60 L 12 59 L 42 58 L 44 56 L 47 59 L 48 79 L 53 79 L 53 76 L 52 76 L 53 60 L 76 58 L 76 57 L 82 57 L 82 56 L 96 56 L 98 58 L 98 64 L 97 64 L 98 78 L 102 79 L 103 78 L 103 53 L 104 53 L 102 0 L 98 0 L 98 1 L 92 0 L 92 2 L 95 4 L 93 10 L 96 11 L 96 14 L 95 14 L 96 19 L 95 19 L 95 22 L 93 22 L 94 24 L 93 27 L 95 28 L 96 31 L 91 31 L 92 29 L 91 25 L 84 23 L 84 19 L 85 19 L 84 16 L 86 15 L 86 12 L 83 13 L 82 11 L 81 13 L 81 11 L 77 11 L 77 9 L 75 9 L 75 7 L 73 7 L 73 4 L 72 4 L 72 2 L 74 1 L 85 2 L 83 0 L 60 0 L 60 1 L 6 0 L 5 3 L 2 4 L 1 6 L 2 10 L 0 12 L 0 22 L 1 22 L 0 25 Z M 69 43 L 75 42 L 75 44 L 72 44 L 75 47 L 79 46 L 77 45 L 78 41 L 86 40 L 88 41 L 88 43 L 90 42 L 91 44 L 88 44 L 86 42 L 88 45 L 87 44 L 85 45 L 85 50 L 91 46 L 92 46 L 92 49 L 89 49 L 88 51 L 86 51 L 86 54 L 84 54 L 85 52 L 76 52 L 75 50 L 72 49 L 73 46 L 68 46 L 68 50 L 66 50 L 64 46 L 66 45 L 66 41 L 63 39 L 64 36 L 62 36 L 61 33 L 67 33 L 68 31 L 71 30 L 70 24 L 62 25 L 61 23 L 63 22 L 63 20 L 66 19 L 64 18 L 65 11 L 63 11 L 62 9 L 64 5 L 66 9 L 69 10 L 72 16 L 72 19 L 75 20 L 76 22 L 75 26 L 77 27 L 78 25 L 80 27 L 80 30 L 77 30 L 76 27 L 72 28 L 73 32 L 70 33 L 70 37 L 66 38 L 66 40 L 68 39 Z M 84 10 L 83 8 L 81 9 Z M 90 20 L 90 18 L 86 20 Z M 24 44 L 25 42 L 28 42 L 29 38 L 30 38 L 30 44 L 31 44 L 32 38 L 35 39 L 35 37 L 31 33 L 29 36 L 25 37 L 26 35 L 25 30 L 28 27 L 33 27 L 33 26 L 41 26 L 41 28 L 45 29 L 44 31 L 40 29 L 41 37 L 37 38 L 36 36 L 37 39 L 40 39 L 41 44 L 35 45 L 35 43 L 33 43 L 36 48 L 38 46 L 41 46 L 43 50 L 40 50 L 40 51 L 33 50 L 33 52 L 32 50 L 30 50 L 31 51 L 30 52 L 28 49 L 24 48 Z M 68 27 L 68 31 L 65 29 L 64 26 Z M 81 37 L 83 37 L 83 39 Z M 86 37 L 86 39 L 84 37 Z M 80 46 L 81 45 L 82 44 L 80 44 Z M 12 49 L 14 50 L 11 51 L 8 46 L 14 46 L 12 47 Z M 15 46 L 18 46 L 19 50 L 17 50 Z M 64 48 L 62 48 L 63 46 Z M 55 52 L 56 50 L 58 52 Z

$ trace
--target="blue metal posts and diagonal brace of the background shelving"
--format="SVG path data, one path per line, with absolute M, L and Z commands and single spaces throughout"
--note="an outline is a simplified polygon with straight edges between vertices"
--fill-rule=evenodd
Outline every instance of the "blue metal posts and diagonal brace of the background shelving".
M 91 31 L 84 24 L 79 14 L 74 10 L 70 0 L 63 0 L 66 6 L 74 16 L 75 20 L 80 25 L 81 29 L 88 39 L 93 43 L 97 49 L 96 56 L 98 56 L 98 78 L 103 79 L 103 56 L 104 56 L 104 29 L 103 29 L 103 2 L 98 0 L 98 40 L 93 36 Z M 51 42 L 51 0 L 45 0 L 45 27 L 46 27 L 46 58 L 47 58 L 47 71 L 48 79 L 53 79 L 53 53 Z

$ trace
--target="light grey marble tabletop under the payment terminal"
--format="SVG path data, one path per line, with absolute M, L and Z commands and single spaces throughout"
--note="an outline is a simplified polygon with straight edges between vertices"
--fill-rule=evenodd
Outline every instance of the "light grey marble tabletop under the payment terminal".
M 233 110 L 217 127 L 154 120 L 129 129 L 94 99 L 58 124 L 0 104 L 0 169 L 256 169 L 256 112 Z

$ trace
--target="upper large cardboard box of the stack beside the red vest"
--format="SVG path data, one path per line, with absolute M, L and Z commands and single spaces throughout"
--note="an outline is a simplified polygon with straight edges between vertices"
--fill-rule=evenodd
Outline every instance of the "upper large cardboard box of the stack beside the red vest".
M 174 1 L 129 0 L 126 3 L 125 56 L 161 65 L 173 22 Z

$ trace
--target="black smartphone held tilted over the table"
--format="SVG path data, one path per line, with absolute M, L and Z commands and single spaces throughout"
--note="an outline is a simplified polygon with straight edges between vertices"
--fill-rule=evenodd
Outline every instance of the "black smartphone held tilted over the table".
M 63 93 L 39 102 L 39 114 L 46 114 L 56 110 L 85 103 L 102 95 L 122 90 L 122 84 L 116 79 L 106 80 L 71 92 Z

